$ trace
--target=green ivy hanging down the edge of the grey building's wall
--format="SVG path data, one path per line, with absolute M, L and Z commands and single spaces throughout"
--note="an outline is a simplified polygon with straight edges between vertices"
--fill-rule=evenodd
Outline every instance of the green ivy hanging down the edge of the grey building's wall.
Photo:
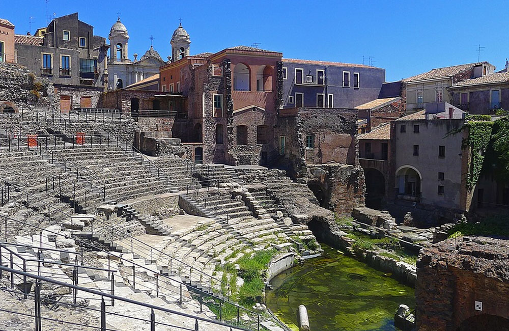
M 485 152 L 491 140 L 493 122 L 469 121 L 465 124 L 469 129 L 468 139 L 464 142 L 465 147 L 470 147 L 472 160 L 467 174 L 467 188 L 471 189 L 479 179 L 483 170 Z

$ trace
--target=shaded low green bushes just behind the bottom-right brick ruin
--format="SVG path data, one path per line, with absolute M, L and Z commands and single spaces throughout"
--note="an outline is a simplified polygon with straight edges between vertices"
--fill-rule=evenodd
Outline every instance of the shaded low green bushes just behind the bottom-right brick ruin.
M 478 223 L 460 223 L 448 232 L 449 238 L 461 236 L 497 236 L 509 238 L 509 216 L 489 217 Z

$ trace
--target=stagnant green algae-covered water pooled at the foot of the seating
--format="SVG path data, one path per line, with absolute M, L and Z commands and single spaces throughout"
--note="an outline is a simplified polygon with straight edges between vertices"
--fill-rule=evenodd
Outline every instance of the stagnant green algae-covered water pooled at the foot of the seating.
M 414 289 L 322 244 L 324 254 L 277 275 L 267 306 L 298 330 L 296 311 L 305 305 L 313 331 L 394 330 L 400 304 L 415 306 Z

